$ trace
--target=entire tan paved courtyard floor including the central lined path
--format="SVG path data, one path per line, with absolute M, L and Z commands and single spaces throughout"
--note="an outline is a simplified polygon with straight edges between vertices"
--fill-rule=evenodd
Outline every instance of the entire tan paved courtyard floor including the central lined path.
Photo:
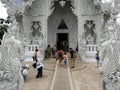
M 35 78 L 36 70 L 30 65 L 24 90 L 101 90 L 101 75 L 95 62 L 84 63 L 76 60 L 75 68 L 70 69 L 60 67 L 51 58 L 44 61 L 44 65 L 43 78 L 39 79 Z

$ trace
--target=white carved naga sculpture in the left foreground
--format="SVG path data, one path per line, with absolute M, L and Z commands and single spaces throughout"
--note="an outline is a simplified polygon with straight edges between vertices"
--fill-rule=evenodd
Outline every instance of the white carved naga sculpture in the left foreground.
M 24 50 L 16 35 L 18 27 L 10 26 L 2 41 L 0 58 L 0 90 L 23 90 L 23 77 L 20 72 Z

